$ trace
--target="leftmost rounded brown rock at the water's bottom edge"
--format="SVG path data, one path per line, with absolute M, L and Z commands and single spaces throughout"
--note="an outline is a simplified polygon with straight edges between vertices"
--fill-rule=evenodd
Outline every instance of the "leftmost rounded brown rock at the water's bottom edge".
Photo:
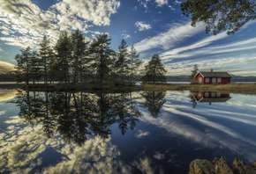
M 196 159 L 190 163 L 189 174 L 210 174 L 214 165 L 207 160 Z

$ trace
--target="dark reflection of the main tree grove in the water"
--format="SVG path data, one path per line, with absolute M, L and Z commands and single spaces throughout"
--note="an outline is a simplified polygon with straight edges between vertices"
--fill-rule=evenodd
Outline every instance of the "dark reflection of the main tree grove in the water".
M 57 132 L 66 143 L 79 146 L 90 135 L 109 138 L 109 127 L 115 123 L 125 134 L 142 116 L 131 92 L 18 91 L 11 103 L 19 106 L 19 117 L 26 124 L 42 124 L 48 137 Z

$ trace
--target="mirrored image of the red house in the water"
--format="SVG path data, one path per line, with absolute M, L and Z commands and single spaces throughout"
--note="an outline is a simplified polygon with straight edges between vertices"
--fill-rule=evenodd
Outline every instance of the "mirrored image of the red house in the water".
M 221 93 L 215 91 L 200 91 L 194 95 L 197 102 L 209 103 L 226 102 L 230 99 L 230 93 Z

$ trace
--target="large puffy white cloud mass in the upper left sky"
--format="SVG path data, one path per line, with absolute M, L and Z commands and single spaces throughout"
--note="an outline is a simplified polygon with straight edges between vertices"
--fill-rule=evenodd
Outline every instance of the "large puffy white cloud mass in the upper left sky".
M 76 30 L 88 32 L 88 22 L 109 25 L 110 16 L 117 13 L 117 0 L 64 0 L 52 5 L 49 11 L 30 0 L 4 1 L 0 6 L 0 32 L 5 44 L 19 47 L 37 47 L 43 34 L 56 41 L 60 32 Z

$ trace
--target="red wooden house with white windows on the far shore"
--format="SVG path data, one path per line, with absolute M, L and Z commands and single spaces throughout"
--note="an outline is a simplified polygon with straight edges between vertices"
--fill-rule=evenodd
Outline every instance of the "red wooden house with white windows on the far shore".
M 198 83 L 230 83 L 230 76 L 227 72 L 214 72 L 213 69 L 208 72 L 199 72 L 195 77 Z

